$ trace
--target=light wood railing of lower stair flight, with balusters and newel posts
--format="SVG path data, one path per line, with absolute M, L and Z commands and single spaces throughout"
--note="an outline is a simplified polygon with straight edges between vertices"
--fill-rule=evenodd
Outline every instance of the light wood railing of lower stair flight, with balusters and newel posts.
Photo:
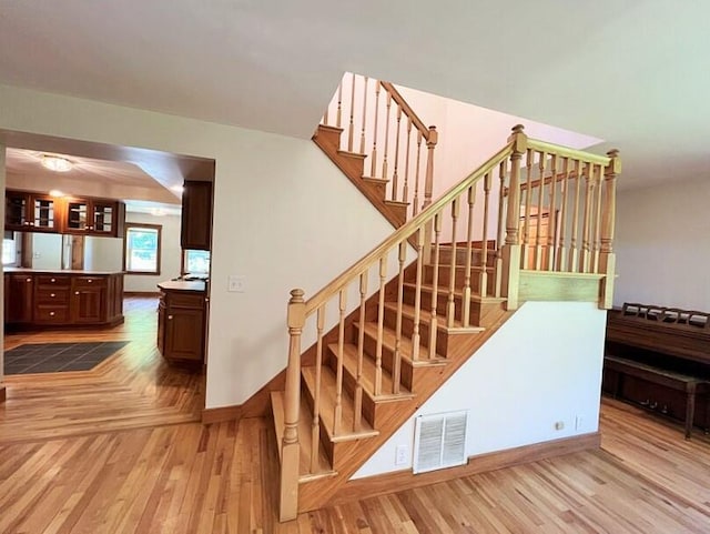
M 525 165 L 521 165 L 524 157 Z M 303 290 L 291 292 L 281 467 L 282 521 L 297 514 L 304 329 L 312 328 L 307 337 L 314 340 L 306 354 L 316 365 L 310 402 L 310 473 L 317 474 L 322 425 L 329 422 L 328 429 L 335 439 L 356 434 L 363 425 L 364 384 L 372 384 L 369 393 L 374 396 L 398 394 L 405 357 L 413 362 L 437 359 L 435 333 L 440 328 L 460 330 L 473 325 L 469 312 L 474 294 L 481 299 L 505 298 L 507 308 L 515 309 L 520 270 L 529 266 L 558 272 L 605 273 L 606 282 L 611 283 L 619 171 L 616 151 L 609 157 L 598 157 L 530 140 L 523 127 L 517 125 L 498 153 L 311 299 L 304 300 Z M 540 192 L 542 189 L 545 191 Z M 477 198 L 483 198 L 481 202 L 476 203 Z M 534 205 L 540 212 L 542 206 L 556 213 L 564 211 L 565 214 L 555 215 L 564 223 L 552 230 L 551 241 L 547 235 L 546 240 L 532 240 Z M 460 242 L 459 234 L 465 235 Z M 414 263 L 405 270 L 409 255 L 414 256 Z M 491 278 L 494 273 L 495 278 Z M 405 285 L 413 290 L 405 292 Z M 353 303 L 349 309 L 354 310 L 349 315 L 348 300 Z M 413 323 L 412 335 L 403 335 L 405 306 L 407 320 Z M 325 333 L 326 318 L 337 326 L 329 334 Z M 385 321 L 394 329 L 394 339 L 384 337 Z M 371 324 L 368 332 L 365 332 L 366 323 Z M 429 335 L 428 342 L 423 343 L 425 330 Z M 355 345 L 349 355 L 346 354 L 348 343 Z M 385 359 L 385 349 L 390 357 Z M 364 375 L 365 351 L 375 360 L 369 376 Z M 356 369 L 355 384 L 349 385 L 354 409 L 348 414 L 343 413 L 342 402 L 346 356 L 355 359 Z M 332 414 L 324 414 L 321 409 L 320 367 L 326 363 L 334 367 L 335 374 Z M 383 369 L 392 377 L 387 386 Z

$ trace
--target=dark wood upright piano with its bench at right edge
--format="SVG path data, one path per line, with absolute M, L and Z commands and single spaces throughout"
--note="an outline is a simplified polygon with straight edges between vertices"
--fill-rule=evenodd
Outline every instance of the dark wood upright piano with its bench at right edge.
M 626 303 L 607 318 L 602 390 L 710 429 L 710 314 Z

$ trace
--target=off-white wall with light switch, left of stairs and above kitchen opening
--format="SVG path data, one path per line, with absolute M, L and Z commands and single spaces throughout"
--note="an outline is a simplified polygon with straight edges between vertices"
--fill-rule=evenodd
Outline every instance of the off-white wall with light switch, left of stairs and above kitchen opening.
M 0 129 L 216 160 L 207 407 L 285 366 L 288 290 L 312 295 L 392 232 L 311 141 L 8 85 L 0 102 Z

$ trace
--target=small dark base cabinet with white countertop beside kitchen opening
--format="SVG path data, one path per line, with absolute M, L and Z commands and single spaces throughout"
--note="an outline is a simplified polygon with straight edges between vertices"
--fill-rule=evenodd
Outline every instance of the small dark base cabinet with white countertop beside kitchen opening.
M 203 363 L 206 286 L 203 281 L 158 284 L 158 349 L 171 363 Z

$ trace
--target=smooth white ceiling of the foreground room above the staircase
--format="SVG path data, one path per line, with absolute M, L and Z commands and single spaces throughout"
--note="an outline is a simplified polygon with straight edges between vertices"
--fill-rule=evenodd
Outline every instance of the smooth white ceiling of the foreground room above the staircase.
M 310 138 L 344 71 L 707 177 L 710 2 L 3 0 L 0 82 Z

